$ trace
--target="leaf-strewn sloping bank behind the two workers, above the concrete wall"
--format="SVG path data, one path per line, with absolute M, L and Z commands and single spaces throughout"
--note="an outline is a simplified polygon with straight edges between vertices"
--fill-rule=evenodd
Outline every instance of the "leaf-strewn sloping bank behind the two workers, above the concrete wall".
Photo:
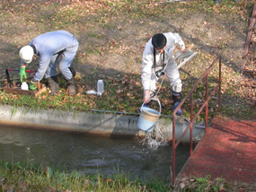
M 65 1 L 63 1 L 65 2 Z M 140 1 L 71 1 L 59 4 L 41 1 L 40 4 L 22 4 L 3 1 L 0 22 L 0 67 L 4 79 L 5 68 L 19 68 L 18 50 L 46 31 L 66 30 L 75 34 L 80 47 L 73 65 L 80 75 L 76 77 L 77 94 L 66 94 L 66 82 L 59 78 L 61 91 L 53 97 L 45 92 L 38 98 L 0 92 L 0 103 L 31 109 L 89 111 L 90 109 L 135 112 L 143 100 L 140 79 L 141 57 L 144 45 L 156 32 L 179 32 L 186 45 L 195 44 L 199 55 L 181 68 L 183 96 L 207 68 L 221 55 L 223 57 L 222 115 L 252 119 L 255 115 L 255 89 L 247 77 L 239 74 L 243 63 L 241 54 L 252 2 L 213 0 L 186 3 Z M 243 35 L 241 35 L 243 34 Z M 235 40 L 234 40 L 235 39 Z M 38 60 L 29 65 L 37 70 Z M 216 84 L 217 70 L 210 74 L 210 89 Z M 11 77 L 18 77 L 12 72 Z M 102 97 L 86 94 L 96 90 L 98 79 L 105 83 Z M 28 79 L 28 81 L 30 78 Z M 17 80 L 18 82 L 18 80 Z M 46 83 L 42 80 L 42 83 Z M 248 84 L 249 83 L 249 84 Z M 1 82 L 1 87 L 4 81 Z M 204 83 L 194 93 L 194 111 L 205 100 Z M 166 78 L 158 97 L 163 115 L 172 115 L 171 89 Z M 216 97 L 209 104 L 209 118 L 216 115 Z M 189 100 L 182 107 L 190 117 Z M 204 118 L 204 112 L 198 120 Z

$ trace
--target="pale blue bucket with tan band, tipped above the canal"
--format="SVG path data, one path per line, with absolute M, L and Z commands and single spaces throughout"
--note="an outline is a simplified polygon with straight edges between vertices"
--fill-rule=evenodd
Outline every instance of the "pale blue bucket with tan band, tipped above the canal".
M 143 107 L 145 102 L 141 106 L 141 113 L 137 121 L 137 127 L 145 132 L 151 132 L 154 129 L 155 123 L 158 121 L 161 115 L 161 103 L 158 99 L 151 98 L 150 100 L 156 100 L 159 104 L 159 111 L 151 108 Z

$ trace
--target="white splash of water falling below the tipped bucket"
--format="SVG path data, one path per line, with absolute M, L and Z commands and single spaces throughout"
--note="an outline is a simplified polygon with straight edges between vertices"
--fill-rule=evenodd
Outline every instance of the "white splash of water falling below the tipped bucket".
M 163 128 L 154 127 L 152 132 L 146 133 L 141 144 L 146 145 L 153 150 L 156 150 L 161 145 L 166 145 L 168 142 L 163 138 Z

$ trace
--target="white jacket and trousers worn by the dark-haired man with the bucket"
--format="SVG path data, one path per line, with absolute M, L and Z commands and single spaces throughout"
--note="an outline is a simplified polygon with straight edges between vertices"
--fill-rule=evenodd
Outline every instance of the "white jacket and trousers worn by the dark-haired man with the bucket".
M 181 36 L 178 33 L 167 32 L 163 33 L 166 37 L 166 46 L 164 49 L 164 61 L 163 54 L 155 52 L 155 67 L 154 67 L 154 46 L 152 45 L 152 39 L 149 39 L 146 43 L 146 47 L 143 53 L 142 59 L 142 84 L 144 91 L 149 90 L 153 93 L 156 90 L 156 85 L 158 77 L 154 72 L 165 68 L 165 74 L 170 81 L 172 92 L 181 92 L 181 78 L 179 70 L 176 68 L 177 64 L 173 59 L 173 50 L 177 44 L 180 48 L 185 46 Z

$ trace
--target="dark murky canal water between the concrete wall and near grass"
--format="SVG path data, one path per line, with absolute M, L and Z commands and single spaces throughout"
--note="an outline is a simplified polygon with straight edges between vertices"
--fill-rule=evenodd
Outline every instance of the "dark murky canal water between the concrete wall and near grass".
M 189 145 L 176 150 L 176 172 L 189 158 Z M 172 146 L 147 139 L 0 126 L 0 160 L 49 166 L 67 172 L 128 174 L 130 179 L 170 182 Z

